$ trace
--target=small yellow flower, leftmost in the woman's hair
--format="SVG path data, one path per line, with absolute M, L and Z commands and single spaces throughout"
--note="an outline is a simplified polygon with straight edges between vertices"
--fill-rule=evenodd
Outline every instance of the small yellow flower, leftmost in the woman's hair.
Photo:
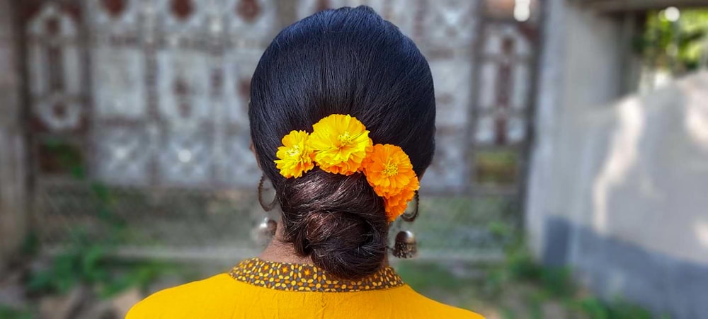
M 299 178 L 302 173 L 312 170 L 312 149 L 307 140 L 309 134 L 304 131 L 292 131 L 282 138 L 282 145 L 278 147 L 275 156 L 275 167 L 280 170 L 280 175 L 285 178 Z

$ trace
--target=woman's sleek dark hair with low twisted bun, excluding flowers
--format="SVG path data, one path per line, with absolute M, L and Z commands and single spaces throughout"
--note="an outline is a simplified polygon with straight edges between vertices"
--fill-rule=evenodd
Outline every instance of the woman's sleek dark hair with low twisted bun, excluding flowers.
M 371 8 L 315 13 L 282 30 L 251 80 L 251 138 L 282 209 L 284 240 L 299 255 L 342 278 L 381 267 L 388 221 L 383 199 L 361 173 L 314 168 L 283 178 L 275 168 L 281 139 L 310 132 L 332 114 L 356 117 L 375 144 L 401 146 L 420 176 L 435 149 L 435 96 L 428 62 L 416 45 Z

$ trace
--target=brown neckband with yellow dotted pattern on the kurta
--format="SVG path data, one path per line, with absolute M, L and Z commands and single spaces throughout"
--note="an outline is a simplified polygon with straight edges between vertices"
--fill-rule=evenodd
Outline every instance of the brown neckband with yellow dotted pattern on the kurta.
M 315 265 L 270 262 L 251 258 L 229 272 L 239 282 L 285 291 L 353 292 L 402 286 L 403 280 L 391 267 L 359 280 L 336 279 Z

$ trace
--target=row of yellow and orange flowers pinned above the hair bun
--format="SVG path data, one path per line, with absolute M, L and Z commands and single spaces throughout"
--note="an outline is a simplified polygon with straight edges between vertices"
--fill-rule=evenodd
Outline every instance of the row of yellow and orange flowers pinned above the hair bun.
M 333 114 L 312 125 L 312 134 L 292 131 L 282 138 L 275 166 L 285 178 L 299 178 L 319 166 L 328 173 L 364 173 L 367 182 L 384 199 L 389 221 L 406 211 L 421 187 L 411 158 L 401 147 L 373 145 L 369 131 L 350 115 Z

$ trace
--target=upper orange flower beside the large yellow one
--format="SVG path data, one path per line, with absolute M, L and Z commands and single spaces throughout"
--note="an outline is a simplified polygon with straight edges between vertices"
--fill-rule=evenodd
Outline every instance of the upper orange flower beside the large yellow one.
M 380 197 L 398 195 L 413 182 L 415 190 L 418 190 L 418 177 L 413 171 L 411 159 L 399 146 L 374 145 L 364 163 L 364 174 Z

